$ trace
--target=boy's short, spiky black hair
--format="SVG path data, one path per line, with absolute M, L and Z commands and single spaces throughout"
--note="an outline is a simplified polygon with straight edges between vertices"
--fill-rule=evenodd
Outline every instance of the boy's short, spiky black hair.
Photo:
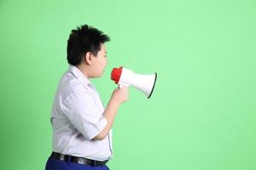
M 109 42 L 108 35 L 92 26 L 78 26 L 72 30 L 67 41 L 67 61 L 70 65 L 79 65 L 84 54 L 91 52 L 93 55 L 101 50 L 101 43 Z

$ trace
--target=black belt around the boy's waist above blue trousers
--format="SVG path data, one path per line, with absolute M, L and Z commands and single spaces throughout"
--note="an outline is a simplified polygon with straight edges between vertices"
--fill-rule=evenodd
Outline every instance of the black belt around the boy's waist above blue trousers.
M 67 155 L 63 155 L 60 153 L 56 153 L 56 152 L 52 152 L 50 157 L 53 159 L 56 159 L 56 160 L 60 160 L 60 161 L 68 161 L 68 159 L 70 158 L 70 162 L 84 164 L 84 165 L 90 165 L 90 166 L 102 166 L 102 165 L 106 165 L 108 162 L 108 160 L 107 161 L 95 161 L 95 160 L 87 159 L 84 157 L 67 156 Z

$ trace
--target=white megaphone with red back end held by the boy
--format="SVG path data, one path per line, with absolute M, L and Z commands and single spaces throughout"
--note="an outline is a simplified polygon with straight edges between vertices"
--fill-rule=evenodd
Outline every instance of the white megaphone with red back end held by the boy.
M 141 75 L 137 74 L 123 66 L 119 68 L 113 68 L 111 72 L 111 79 L 119 84 L 119 88 L 123 86 L 132 86 L 146 94 L 148 99 L 154 91 L 154 85 L 156 82 L 157 74 Z

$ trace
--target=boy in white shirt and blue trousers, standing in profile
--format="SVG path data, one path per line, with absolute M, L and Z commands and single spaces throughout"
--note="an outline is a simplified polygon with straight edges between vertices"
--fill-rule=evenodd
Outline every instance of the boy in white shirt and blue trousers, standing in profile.
M 116 88 L 105 109 L 90 78 L 102 77 L 110 38 L 91 26 L 72 30 L 67 41 L 68 71 L 61 77 L 52 107 L 53 152 L 46 170 L 106 169 L 112 157 L 114 118 L 128 99 Z

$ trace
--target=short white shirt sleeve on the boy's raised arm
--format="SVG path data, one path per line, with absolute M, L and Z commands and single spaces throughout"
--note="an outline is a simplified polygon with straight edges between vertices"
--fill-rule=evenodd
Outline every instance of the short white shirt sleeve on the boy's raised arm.
M 85 139 L 95 138 L 108 124 L 90 91 L 78 90 L 69 94 L 62 100 L 61 108 L 67 119 Z

